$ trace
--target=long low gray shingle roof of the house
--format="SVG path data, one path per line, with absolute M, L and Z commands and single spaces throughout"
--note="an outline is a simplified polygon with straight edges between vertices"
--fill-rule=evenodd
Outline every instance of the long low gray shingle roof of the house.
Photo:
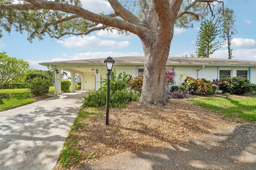
M 39 63 L 40 65 L 66 65 L 66 64 L 84 64 L 84 65 L 104 65 L 104 60 L 100 59 L 81 59 L 70 61 L 56 61 Z M 144 65 L 144 57 L 113 57 L 115 65 Z M 240 66 L 256 67 L 256 61 L 240 59 L 219 59 L 219 58 L 198 58 L 198 57 L 168 57 L 166 62 L 168 66 Z

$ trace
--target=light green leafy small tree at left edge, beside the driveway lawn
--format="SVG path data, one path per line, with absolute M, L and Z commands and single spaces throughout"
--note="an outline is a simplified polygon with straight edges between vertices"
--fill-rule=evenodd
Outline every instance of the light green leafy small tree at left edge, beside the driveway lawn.
M 19 77 L 29 69 L 29 63 L 16 57 L 9 57 L 6 52 L 0 52 L 0 89 Z

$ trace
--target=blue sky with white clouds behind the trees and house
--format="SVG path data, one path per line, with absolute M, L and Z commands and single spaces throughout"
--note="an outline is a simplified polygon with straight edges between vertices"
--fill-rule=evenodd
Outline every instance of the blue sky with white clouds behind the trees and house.
M 104 0 L 81 2 L 84 8 L 92 12 L 111 11 L 110 5 Z M 233 59 L 256 60 L 256 0 L 224 0 L 224 5 L 233 9 L 236 15 L 238 33 L 232 36 Z M 199 27 L 200 22 L 194 23 L 194 28 L 176 28 L 169 56 L 195 55 Z M 51 39 L 46 35 L 44 40 L 35 39 L 33 43 L 28 42 L 26 32 L 20 34 L 12 31 L 9 36 L 3 30 L 3 35 L 0 39 L 0 51 L 5 51 L 10 57 L 28 61 L 34 69 L 47 69 L 38 64 L 41 62 L 144 55 L 142 43 L 136 35 L 97 31 L 83 38 L 66 36 L 64 41 Z M 210 57 L 228 58 L 227 47 L 222 46 Z

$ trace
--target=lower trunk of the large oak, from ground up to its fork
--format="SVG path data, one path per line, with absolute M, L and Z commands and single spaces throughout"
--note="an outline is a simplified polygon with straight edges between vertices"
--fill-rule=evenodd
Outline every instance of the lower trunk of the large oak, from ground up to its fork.
M 165 90 L 165 70 L 173 29 L 169 30 L 168 34 L 160 38 L 157 36 L 154 43 L 142 40 L 145 66 L 140 103 L 164 106 L 168 101 Z

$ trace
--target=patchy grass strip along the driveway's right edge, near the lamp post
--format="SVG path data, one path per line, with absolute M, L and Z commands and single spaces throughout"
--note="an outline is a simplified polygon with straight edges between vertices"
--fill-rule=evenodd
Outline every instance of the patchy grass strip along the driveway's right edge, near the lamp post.
M 82 151 L 79 150 L 79 142 L 76 140 L 76 132 L 78 132 L 80 128 L 86 127 L 83 119 L 93 119 L 94 116 L 90 117 L 90 115 L 102 115 L 102 110 L 93 107 L 80 109 L 59 156 L 59 162 L 62 166 L 69 166 L 80 161 Z M 95 153 L 85 153 L 84 157 L 94 159 L 96 156 L 97 154 Z

